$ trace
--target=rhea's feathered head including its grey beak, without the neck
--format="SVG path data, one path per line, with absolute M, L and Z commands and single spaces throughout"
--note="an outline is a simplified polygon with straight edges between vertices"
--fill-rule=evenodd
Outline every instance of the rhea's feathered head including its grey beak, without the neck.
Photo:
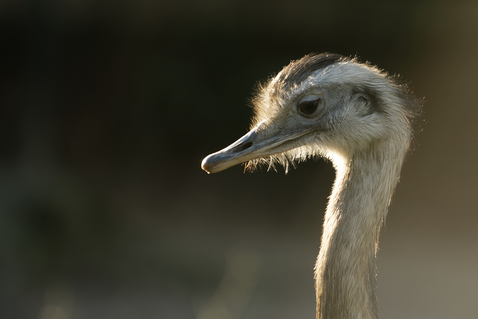
M 320 155 L 348 159 L 370 148 L 406 152 L 419 104 L 385 72 L 343 55 L 306 55 L 258 89 L 250 132 L 202 162 L 208 173 Z

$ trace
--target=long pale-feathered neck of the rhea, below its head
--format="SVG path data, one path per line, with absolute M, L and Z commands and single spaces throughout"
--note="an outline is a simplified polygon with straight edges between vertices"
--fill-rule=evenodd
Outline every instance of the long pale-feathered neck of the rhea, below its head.
M 336 157 L 337 176 L 315 266 L 317 319 L 378 318 L 378 237 L 404 154 L 389 144 L 380 152 Z

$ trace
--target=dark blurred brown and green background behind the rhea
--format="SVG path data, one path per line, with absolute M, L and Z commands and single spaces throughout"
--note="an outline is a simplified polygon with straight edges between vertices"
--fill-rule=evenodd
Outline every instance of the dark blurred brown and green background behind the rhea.
M 315 318 L 331 163 L 200 163 L 258 80 L 326 51 L 427 101 L 381 318 L 476 318 L 476 1 L 3 0 L 0 33 L 1 318 Z

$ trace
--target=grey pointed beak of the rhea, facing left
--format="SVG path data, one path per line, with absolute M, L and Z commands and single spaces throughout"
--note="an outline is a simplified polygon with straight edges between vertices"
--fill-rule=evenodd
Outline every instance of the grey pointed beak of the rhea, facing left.
M 239 140 L 230 144 L 225 149 L 207 156 L 201 164 L 202 169 L 208 174 L 217 173 L 236 164 L 286 152 L 297 146 L 291 148 L 278 146 L 304 135 L 304 132 L 301 132 L 292 135 L 278 134 L 271 137 L 271 135 L 267 133 L 267 129 L 261 130 L 261 126 L 263 127 L 266 121 L 267 120 L 264 120 L 257 124 L 257 126 L 250 130 L 249 133 L 242 136 Z M 261 132 L 259 132 L 259 130 L 261 130 Z

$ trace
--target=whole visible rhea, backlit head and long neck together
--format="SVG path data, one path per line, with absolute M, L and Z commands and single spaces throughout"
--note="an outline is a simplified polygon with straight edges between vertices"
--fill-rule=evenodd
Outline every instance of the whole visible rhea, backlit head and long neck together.
M 250 132 L 202 162 L 208 173 L 248 162 L 273 168 L 314 156 L 336 179 L 315 264 L 317 319 L 376 319 L 380 227 L 413 140 L 420 100 L 356 58 L 291 62 L 255 98 Z

